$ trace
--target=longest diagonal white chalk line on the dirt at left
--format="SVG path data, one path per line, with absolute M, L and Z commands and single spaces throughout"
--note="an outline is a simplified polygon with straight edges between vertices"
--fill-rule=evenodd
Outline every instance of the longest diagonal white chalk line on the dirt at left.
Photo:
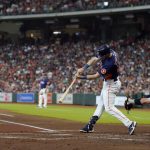
M 17 123 L 17 122 L 12 122 L 12 121 L 7 121 L 7 120 L 1 120 L 1 119 L 0 119 L 0 122 L 9 123 L 9 124 L 15 124 L 15 125 L 20 125 L 20 126 L 34 128 L 34 129 L 39 129 L 39 130 L 43 130 L 43 131 L 47 131 L 47 132 L 56 132 L 56 130 L 51 130 L 51 129 L 47 129 L 47 128 L 41 128 L 41 127 L 37 127 L 37 126 L 33 126 L 33 125 L 28 125 L 28 124 L 24 124 L 24 123 Z

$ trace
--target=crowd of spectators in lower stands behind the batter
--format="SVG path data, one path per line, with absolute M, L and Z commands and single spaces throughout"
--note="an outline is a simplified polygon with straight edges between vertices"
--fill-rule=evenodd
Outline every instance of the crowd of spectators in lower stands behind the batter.
M 119 53 L 122 88 L 130 92 L 150 91 L 150 40 L 118 40 L 109 43 Z M 41 44 L 5 44 L 0 46 L 0 86 L 4 91 L 35 92 L 45 73 L 51 92 L 64 92 L 79 67 L 94 55 L 97 43 L 47 42 Z M 96 70 L 95 70 L 96 71 Z M 90 69 L 90 72 L 95 72 Z M 74 93 L 99 93 L 101 80 L 78 80 Z

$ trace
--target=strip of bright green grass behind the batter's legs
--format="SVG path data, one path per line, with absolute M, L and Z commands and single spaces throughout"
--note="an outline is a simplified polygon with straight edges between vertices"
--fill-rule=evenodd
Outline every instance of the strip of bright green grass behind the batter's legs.
M 1 110 L 9 110 L 16 113 L 36 115 L 41 117 L 61 118 L 77 122 L 87 122 L 96 107 L 80 107 L 73 105 L 49 105 L 46 109 L 39 109 L 35 104 L 5 104 L 0 103 Z M 136 120 L 138 124 L 150 124 L 150 109 L 134 109 L 129 114 L 120 109 L 129 119 Z M 116 118 L 104 112 L 98 123 L 120 123 Z

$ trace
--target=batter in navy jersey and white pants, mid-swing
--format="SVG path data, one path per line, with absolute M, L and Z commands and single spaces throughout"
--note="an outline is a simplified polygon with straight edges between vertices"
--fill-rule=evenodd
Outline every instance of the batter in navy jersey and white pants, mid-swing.
M 104 81 L 97 108 L 89 123 L 86 124 L 80 132 L 93 132 L 94 124 L 98 119 L 100 119 L 105 110 L 107 113 L 120 120 L 128 128 L 129 134 L 132 135 L 137 123 L 129 120 L 114 106 L 116 94 L 119 92 L 121 87 L 117 53 L 108 45 L 98 47 L 96 52 L 96 56 L 92 57 L 87 64 L 78 69 L 76 74 L 76 77 L 79 79 L 96 79 L 101 77 Z M 97 73 L 93 75 L 83 75 L 89 66 L 97 63 L 98 61 L 101 61 L 101 66 L 99 67 Z

